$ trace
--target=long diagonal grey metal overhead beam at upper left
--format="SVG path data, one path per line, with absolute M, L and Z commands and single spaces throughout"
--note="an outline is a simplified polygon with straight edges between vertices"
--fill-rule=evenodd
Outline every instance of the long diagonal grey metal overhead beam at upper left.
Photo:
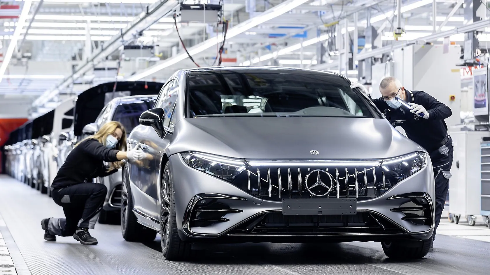
M 147 6 L 146 11 L 139 14 L 133 20 L 133 22 L 128 24 L 127 27 L 121 29 L 120 34 L 115 35 L 111 40 L 105 42 L 103 46 L 100 46 L 99 49 L 94 52 L 90 58 L 88 58 L 88 60 L 76 68 L 76 71 L 72 75 L 67 77 L 54 90 L 46 91 L 42 96 L 37 98 L 34 101 L 33 106 L 42 106 L 44 103 L 48 102 L 61 90 L 69 87 L 69 85 L 71 85 L 76 79 L 103 61 L 106 56 L 116 51 L 119 47 L 134 40 L 139 36 L 140 32 L 158 22 L 160 18 L 172 12 L 176 6 L 177 3 L 172 0 L 157 0 L 154 4 Z

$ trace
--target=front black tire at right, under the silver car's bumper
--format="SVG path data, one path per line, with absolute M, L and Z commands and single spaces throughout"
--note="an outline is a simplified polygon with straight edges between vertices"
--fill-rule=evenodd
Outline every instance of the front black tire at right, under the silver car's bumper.
M 393 259 L 421 259 L 430 250 L 431 239 L 422 241 L 384 241 L 381 242 L 385 254 Z

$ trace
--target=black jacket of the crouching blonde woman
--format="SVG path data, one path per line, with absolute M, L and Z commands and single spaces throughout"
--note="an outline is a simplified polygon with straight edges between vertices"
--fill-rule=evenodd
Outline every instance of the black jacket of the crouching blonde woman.
M 118 152 L 119 150 L 108 149 L 95 138 L 80 142 L 66 158 L 51 187 L 56 189 L 77 183 L 90 183 L 96 177 L 116 173 L 116 169 L 108 172 L 102 161 L 117 161 Z

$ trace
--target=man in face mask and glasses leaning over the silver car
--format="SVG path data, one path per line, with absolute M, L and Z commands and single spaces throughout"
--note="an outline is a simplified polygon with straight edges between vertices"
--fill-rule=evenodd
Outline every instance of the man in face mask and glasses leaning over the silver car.
M 357 82 L 352 83 L 350 88 L 359 88 L 378 109 L 388 109 L 390 118 L 404 120 L 401 127 L 407 137 L 429 152 L 436 184 L 435 226 L 432 234 L 434 241 L 436 229 L 441 221 L 453 162 L 453 141 L 447 134 L 447 125 L 444 122 L 444 118 L 452 115 L 451 109 L 426 92 L 406 90 L 398 79 L 391 76 L 385 77 L 379 84 L 381 98 L 372 99 L 366 87 Z M 402 107 L 402 103 L 395 100 L 395 97 L 407 102 L 410 110 Z M 433 244 L 430 251 L 432 246 Z

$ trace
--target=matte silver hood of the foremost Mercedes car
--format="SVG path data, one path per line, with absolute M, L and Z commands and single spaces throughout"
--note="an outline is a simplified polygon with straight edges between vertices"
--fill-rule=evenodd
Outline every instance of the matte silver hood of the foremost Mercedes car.
M 170 154 L 197 151 L 243 159 L 359 160 L 424 151 L 386 119 L 357 117 L 186 118 L 175 124 L 173 138 Z

